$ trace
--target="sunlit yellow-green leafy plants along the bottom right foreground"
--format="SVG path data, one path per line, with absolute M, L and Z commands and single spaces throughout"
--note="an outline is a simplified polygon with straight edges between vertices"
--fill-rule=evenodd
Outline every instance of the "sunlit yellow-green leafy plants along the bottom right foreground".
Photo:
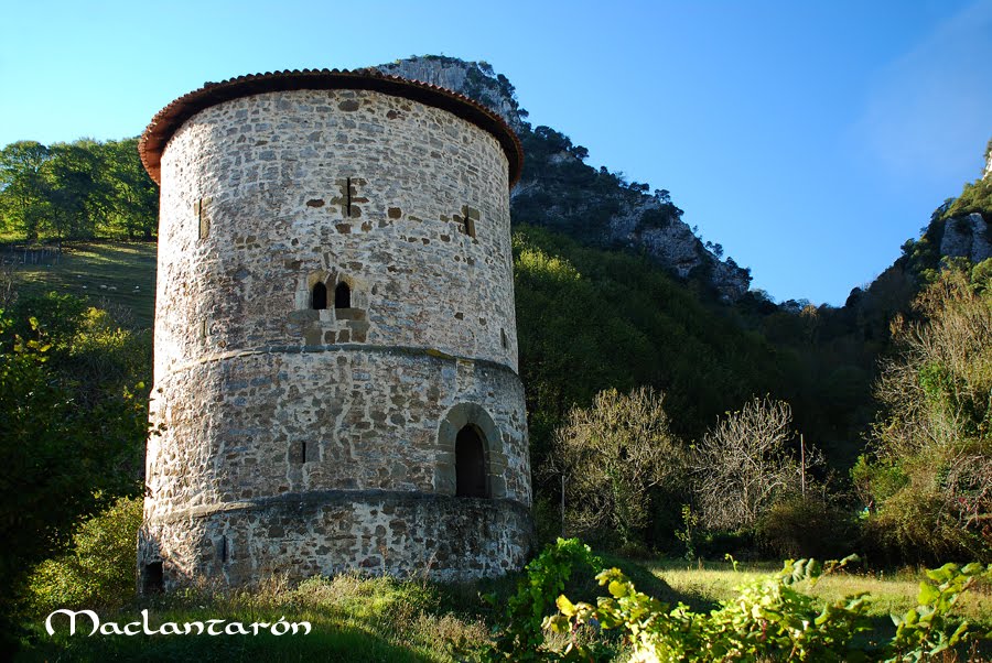
M 670 608 L 611 568 L 596 576 L 608 596 L 592 606 L 562 595 L 556 601 L 559 613 L 549 617 L 546 626 L 568 635 L 589 627 L 623 631 L 635 661 L 867 661 L 881 655 L 895 663 L 919 661 L 975 637 L 967 622 L 958 622 L 950 612 L 961 593 L 979 576 L 992 574 L 992 567 L 948 564 L 928 572 L 930 582 L 920 584 L 920 605 L 904 617 L 893 617 L 897 633 L 878 649 L 859 639 L 871 630 L 866 593 L 820 608 L 801 591 L 854 558 L 826 565 L 788 561 L 779 573 L 740 587 L 736 597 L 709 615 L 692 612 L 684 604 Z M 573 661 L 596 655 L 595 644 L 574 638 L 560 652 L 562 659 Z

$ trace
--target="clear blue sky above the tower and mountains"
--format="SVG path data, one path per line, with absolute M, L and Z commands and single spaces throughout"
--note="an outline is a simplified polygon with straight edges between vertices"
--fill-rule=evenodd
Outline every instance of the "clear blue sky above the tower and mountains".
M 0 17 L 0 145 L 136 135 L 241 74 L 486 59 L 535 124 L 671 191 L 778 301 L 843 304 L 992 138 L 992 0 L 2 0 Z

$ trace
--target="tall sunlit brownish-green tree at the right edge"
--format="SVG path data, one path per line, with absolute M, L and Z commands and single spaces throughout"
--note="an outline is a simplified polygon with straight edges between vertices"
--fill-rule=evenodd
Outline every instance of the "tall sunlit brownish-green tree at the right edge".
M 874 458 L 855 483 L 869 533 L 923 559 L 992 559 L 992 260 L 955 261 L 917 297 L 923 322 L 893 323 Z

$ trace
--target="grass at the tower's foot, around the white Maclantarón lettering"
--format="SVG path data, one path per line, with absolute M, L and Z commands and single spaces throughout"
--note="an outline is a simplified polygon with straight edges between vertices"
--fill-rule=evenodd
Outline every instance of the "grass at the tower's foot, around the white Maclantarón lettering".
M 141 609 L 148 609 L 154 627 L 208 619 L 249 627 L 284 618 L 309 621 L 313 630 L 308 635 L 278 637 L 262 629 L 258 635 L 87 638 L 69 637 L 63 622 L 51 638 L 44 631 L 44 617 L 37 616 L 29 622 L 29 634 L 15 660 L 457 661 L 471 657 L 488 640 L 492 616 L 478 593 L 496 589 L 506 594 L 509 586 L 506 582 L 442 586 L 345 574 L 313 578 L 296 588 L 272 583 L 229 597 L 191 591 L 97 612 L 101 622 L 120 624 L 140 620 Z

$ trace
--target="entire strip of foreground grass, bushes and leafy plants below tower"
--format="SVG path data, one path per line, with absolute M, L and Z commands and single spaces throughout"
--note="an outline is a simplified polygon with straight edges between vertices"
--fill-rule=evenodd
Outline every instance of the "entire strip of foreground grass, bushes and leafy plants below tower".
M 827 565 L 834 573 L 823 576 L 821 566 L 807 561 L 789 562 L 780 573 L 747 572 L 736 563 L 675 570 L 671 562 L 645 567 L 594 555 L 575 540 L 559 540 L 525 573 L 494 582 L 439 585 L 344 574 L 295 586 L 270 578 L 251 590 L 187 589 L 139 600 L 116 580 L 134 564 L 133 531 L 115 535 L 121 522 L 137 525 L 137 517 L 120 518 L 128 503 L 77 530 L 73 559 L 36 569 L 18 660 L 913 661 L 940 654 L 939 660 L 980 661 L 988 654 L 982 638 L 992 629 L 992 567 L 948 565 L 912 580 L 865 579 L 841 573 L 837 564 Z M 614 568 L 601 570 L 606 566 Z M 76 583 L 89 593 L 76 593 Z M 869 586 L 871 596 L 864 595 Z M 45 618 L 56 608 L 88 608 L 101 623 L 121 626 L 141 621 L 147 610 L 152 630 L 211 619 L 248 628 L 306 621 L 311 630 L 131 637 L 104 631 L 90 638 L 88 620 L 82 620 L 84 634 L 71 635 L 67 619 L 54 618 L 50 635 Z

